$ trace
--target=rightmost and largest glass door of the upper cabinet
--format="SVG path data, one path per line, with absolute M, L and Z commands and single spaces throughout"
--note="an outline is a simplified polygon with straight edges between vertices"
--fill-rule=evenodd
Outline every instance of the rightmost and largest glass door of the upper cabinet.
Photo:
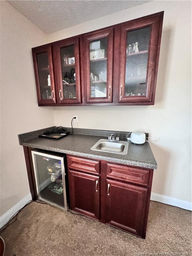
M 121 27 L 119 102 L 151 101 L 156 17 Z

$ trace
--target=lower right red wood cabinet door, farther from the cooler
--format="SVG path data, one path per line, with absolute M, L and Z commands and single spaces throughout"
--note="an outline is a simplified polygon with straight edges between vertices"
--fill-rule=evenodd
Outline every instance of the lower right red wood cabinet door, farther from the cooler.
M 106 222 L 144 237 L 147 188 L 107 179 Z

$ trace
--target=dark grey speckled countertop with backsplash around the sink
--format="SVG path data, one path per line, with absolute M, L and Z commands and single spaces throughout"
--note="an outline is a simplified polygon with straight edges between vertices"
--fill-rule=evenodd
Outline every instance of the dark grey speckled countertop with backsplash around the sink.
M 93 151 L 90 149 L 99 139 L 106 139 L 106 137 L 111 133 L 114 133 L 115 136 L 119 135 L 119 137 L 121 138 L 120 140 L 126 140 L 125 135 L 128 132 L 101 131 L 76 128 L 74 129 L 74 135 L 68 135 L 59 140 L 38 137 L 38 135 L 42 134 L 45 130 L 50 130 L 53 128 L 54 127 L 49 127 L 34 132 L 20 134 L 19 143 L 20 145 L 27 147 L 50 150 L 88 158 L 95 158 L 144 168 L 157 169 L 157 163 L 148 142 L 145 142 L 142 145 L 136 145 L 129 141 L 128 151 L 126 155 Z M 67 130 L 70 130 L 70 128 L 67 128 Z M 95 136 L 96 134 L 98 134 L 99 136 Z M 101 134 L 105 137 L 100 136 Z

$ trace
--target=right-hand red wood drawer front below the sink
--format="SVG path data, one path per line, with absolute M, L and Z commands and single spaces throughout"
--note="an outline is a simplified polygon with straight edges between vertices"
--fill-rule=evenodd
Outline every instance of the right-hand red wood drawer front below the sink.
M 107 163 L 107 178 L 148 185 L 149 171 Z

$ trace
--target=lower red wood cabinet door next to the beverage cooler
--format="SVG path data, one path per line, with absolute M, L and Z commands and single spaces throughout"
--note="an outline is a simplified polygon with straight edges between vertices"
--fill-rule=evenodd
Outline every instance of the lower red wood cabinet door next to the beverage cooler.
M 99 220 L 100 178 L 69 170 L 70 209 Z

